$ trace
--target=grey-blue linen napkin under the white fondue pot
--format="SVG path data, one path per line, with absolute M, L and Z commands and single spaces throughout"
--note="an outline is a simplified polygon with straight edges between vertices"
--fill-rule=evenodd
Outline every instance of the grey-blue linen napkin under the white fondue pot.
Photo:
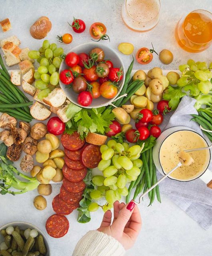
M 195 102 L 195 99 L 184 96 L 175 112 L 164 116 L 162 131 L 173 126 L 187 126 L 202 134 L 199 125 L 190 121 L 192 118 L 190 114 L 197 114 L 194 108 Z M 209 169 L 212 170 L 212 163 Z M 162 177 L 159 172 L 157 176 L 158 179 Z M 160 183 L 160 191 L 167 194 L 205 230 L 212 225 L 212 189 L 208 188 L 202 180 L 179 182 L 167 178 Z

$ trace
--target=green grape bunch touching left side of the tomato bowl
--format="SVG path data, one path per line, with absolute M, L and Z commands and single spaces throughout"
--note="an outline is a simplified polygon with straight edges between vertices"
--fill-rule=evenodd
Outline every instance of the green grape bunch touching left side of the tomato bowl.
M 28 56 L 36 59 L 40 66 L 34 73 L 35 87 L 41 90 L 38 98 L 42 100 L 59 83 L 59 68 L 62 61 L 61 55 L 64 53 L 63 48 L 57 48 L 55 43 L 50 44 L 48 40 L 44 40 L 42 47 L 36 51 L 29 51 Z

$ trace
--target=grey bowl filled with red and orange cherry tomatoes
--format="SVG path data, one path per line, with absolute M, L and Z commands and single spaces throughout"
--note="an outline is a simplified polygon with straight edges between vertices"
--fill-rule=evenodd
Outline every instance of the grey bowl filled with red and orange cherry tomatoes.
M 122 90 L 124 64 L 110 47 L 89 42 L 66 54 L 60 65 L 60 87 L 83 108 L 108 106 Z

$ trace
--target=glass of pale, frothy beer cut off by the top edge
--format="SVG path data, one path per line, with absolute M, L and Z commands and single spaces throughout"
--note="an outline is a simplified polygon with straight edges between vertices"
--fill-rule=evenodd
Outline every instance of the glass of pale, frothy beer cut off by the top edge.
M 124 23 L 137 32 L 154 28 L 160 18 L 159 12 L 160 0 L 125 0 L 122 6 Z

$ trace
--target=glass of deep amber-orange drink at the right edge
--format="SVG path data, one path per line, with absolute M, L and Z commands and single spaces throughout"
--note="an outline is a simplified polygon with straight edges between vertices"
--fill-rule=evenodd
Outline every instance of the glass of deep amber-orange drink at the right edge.
M 175 38 L 187 52 L 202 52 L 212 42 L 212 13 L 194 10 L 178 22 Z

